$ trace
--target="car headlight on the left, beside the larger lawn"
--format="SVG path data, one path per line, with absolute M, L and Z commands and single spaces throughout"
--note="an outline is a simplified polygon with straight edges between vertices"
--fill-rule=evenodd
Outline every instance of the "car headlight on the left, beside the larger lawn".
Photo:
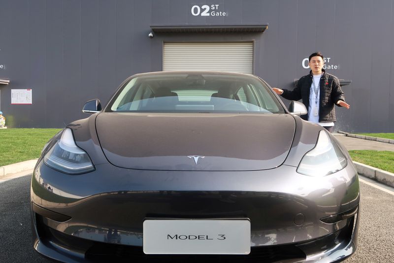
M 64 130 L 60 140 L 45 154 L 44 163 L 55 170 L 69 174 L 95 170 L 89 155 L 75 144 L 74 136 L 69 128 Z

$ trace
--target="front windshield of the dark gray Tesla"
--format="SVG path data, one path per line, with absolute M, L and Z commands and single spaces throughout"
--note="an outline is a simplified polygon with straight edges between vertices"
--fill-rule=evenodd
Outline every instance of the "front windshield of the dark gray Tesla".
M 131 78 L 106 111 L 285 113 L 257 77 L 220 73 L 159 73 Z

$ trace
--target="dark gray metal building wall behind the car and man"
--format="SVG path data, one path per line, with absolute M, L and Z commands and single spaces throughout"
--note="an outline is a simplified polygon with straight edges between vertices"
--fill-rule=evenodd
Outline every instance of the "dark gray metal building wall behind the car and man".
M 225 17 L 193 16 L 219 4 Z M 266 24 L 264 33 L 155 33 L 151 25 Z M 255 41 L 254 73 L 293 89 L 312 52 L 344 86 L 337 130 L 394 132 L 393 0 L 0 0 L 1 110 L 9 127 L 63 127 L 128 76 L 162 70 L 164 41 Z M 11 105 L 11 89 L 33 89 Z

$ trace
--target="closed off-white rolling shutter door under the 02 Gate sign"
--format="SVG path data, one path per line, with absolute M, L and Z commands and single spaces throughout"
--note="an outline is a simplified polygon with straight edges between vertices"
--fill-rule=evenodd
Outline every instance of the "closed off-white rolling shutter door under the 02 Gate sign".
M 164 43 L 163 70 L 253 73 L 253 42 Z

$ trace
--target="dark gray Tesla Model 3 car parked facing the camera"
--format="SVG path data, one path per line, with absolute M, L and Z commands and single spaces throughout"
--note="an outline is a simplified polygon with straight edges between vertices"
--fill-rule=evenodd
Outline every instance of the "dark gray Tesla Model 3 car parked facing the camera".
M 128 78 L 44 147 L 33 246 L 63 262 L 335 262 L 357 248 L 346 149 L 260 78 Z

